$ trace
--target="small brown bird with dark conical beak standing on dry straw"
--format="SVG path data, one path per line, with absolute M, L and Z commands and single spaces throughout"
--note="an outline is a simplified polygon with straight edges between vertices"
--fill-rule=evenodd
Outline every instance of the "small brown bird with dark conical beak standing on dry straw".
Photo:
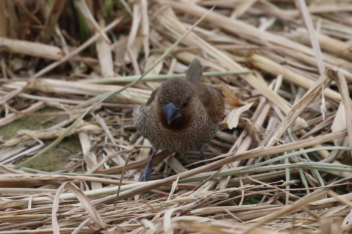
M 199 59 L 194 59 L 186 79 L 164 81 L 152 92 L 146 105 L 134 108 L 134 125 L 153 149 L 139 181 L 150 180 L 153 156 L 159 150 L 177 153 L 197 150 L 205 158 L 205 144 L 219 129 L 225 103 L 218 89 L 200 83 L 202 74 Z

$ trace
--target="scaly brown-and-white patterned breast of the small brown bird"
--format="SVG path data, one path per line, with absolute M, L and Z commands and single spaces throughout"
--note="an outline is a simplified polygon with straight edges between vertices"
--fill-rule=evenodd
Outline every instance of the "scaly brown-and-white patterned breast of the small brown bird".
M 219 128 L 206 113 L 198 111 L 192 114 L 183 113 L 168 125 L 163 112 L 146 108 L 140 118 L 135 119 L 135 125 L 154 148 L 184 153 L 199 150 L 214 138 Z

